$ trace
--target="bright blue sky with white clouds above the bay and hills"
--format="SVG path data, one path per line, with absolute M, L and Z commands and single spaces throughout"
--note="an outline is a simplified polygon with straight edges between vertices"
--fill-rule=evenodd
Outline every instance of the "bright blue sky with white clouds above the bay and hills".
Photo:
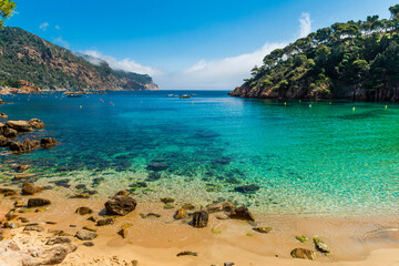
M 395 0 L 14 0 L 7 21 L 161 90 L 233 90 L 263 58 L 335 22 L 389 18 Z

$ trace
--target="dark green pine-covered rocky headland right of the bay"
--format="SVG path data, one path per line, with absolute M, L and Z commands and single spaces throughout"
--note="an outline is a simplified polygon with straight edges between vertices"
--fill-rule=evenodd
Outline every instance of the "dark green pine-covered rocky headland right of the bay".
M 229 95 L 399 102 L 399 4 L 391 18 L 335 23 L 277 49 Z

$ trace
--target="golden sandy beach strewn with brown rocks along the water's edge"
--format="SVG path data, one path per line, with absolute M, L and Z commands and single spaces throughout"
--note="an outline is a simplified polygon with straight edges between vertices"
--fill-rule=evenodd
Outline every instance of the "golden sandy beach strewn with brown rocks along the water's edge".
M 19 196 L 18 196 L 19 197 Z M 397 217 L 358 217 L 358 218 L 304 218 L 296 216 L 262 216 L 253 213 L 255 223 L 223 218 L 223 213 L 211 213 L 209 222 L 205 228 L 194 228 L 188 225 L 192 217 L 175 219 L 173 215 L 180 207 L 165 209 L 164 204 L 145 203 L 137 200 L 137 207 L 126 216 L 114 217 L 112 225 L 94 226 L 88 221 L 89 216 L 101 218 L 104 216 L 106 198 L 66 198 L 57 191 L 43 191 L 28 198 L 41 197 L 51 201 L 44 212 L 17 213 L 25 217 L 29 223 L 38 223 L 44 227 L 43 232 L 24 232 L 20 221 L 12 223 L 21 227 L 2 229 L 4 239 L 13 241 L 22 247 L 49 248 L 44 243 L 52 238 L 48 229 L 62 229 L 71 236 L 72 244 L 78 250 L 66 256 L 60 265 L 119 265 L 123 260 L 139 260 L 139 265 L 223 265 L 224 262 L 234 262 L 236 265 L 264 265 L 277 263 L 278 265 L 374 265 L 383 254 L 387 262 L 399 249 L 399 233 L 396 228 Z M 134 197 L 134 196 L 133 196 Z M 7 213 L 13 207 L 16 198 L 4 197 L 1 201 L 0 212 Z M 68 203 L 68 204 L 65 204 Z M 86 206 L 94 211 L 91 215 L 79 215 L 75 209 Z M 200 209 L 196 207 L 194 211 Z M 187 211 L 192 213 L 194 211 Z M 142 214 L 155 213 L 160 217 Z M 221 217 L 218 217 L 221 216 Z M 55 224 L 47 224 L 51 222 Z M 123 224 L 132 224 L 127 229 L 126 238 L 117 232 Z M 71 227 L 73 225 L 74 227 Z M 255 232 L 254 226 L 270 226 L 268 234 Z M 83 242 L 73 237 L 84 226 L 94 227 L 99 235 L 92 242 L 93 247 L 83 246 Z M 307 243 L 298 242 L 295 236 L 305 235 Z M 29 239 L 27 237 L 29 236 Z M 318 236 L 329 246 L 331 254 L 326 256 L 317 252 L 315 262 L 290 257 L 290 250 L 297 247 L 315 250 L 311 238 Z M 106 250 L 104 253 L 104 250 Z M 191 250 L 198 253 L 197 257 L 176 257 L 180 252 Z M 116 258 L 114 257 L 116 256 Z M 101 262 L 103 259 L 103 262 Z M 116 259 L 116 260 L 115 260 Z M 115 260 L 115 262 L 113 262 Z M 167 262 L 167 263 L 166 263 Z M 114 264 L 112 264 L 114 263 Z M 99 265 L 99 264 L 98 264 Z

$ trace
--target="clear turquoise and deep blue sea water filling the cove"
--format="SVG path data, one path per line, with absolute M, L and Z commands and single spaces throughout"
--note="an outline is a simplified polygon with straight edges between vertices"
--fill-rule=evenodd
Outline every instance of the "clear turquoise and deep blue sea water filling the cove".
M 145 182 L 137 196 L 229 200 L 298 215 L 399 213 L 399 105 L 168 93 L 176 94 L 3 96 L 14 103 L 1 106 L 10 120 L 38 117 L 47 125 L 20 139 L 54 136 L 61 144 L 1 160 L 99 191 Z M 151 162 L 168 168 L 149 171 Z M 252 184 L 259 190 L 234 190 Z

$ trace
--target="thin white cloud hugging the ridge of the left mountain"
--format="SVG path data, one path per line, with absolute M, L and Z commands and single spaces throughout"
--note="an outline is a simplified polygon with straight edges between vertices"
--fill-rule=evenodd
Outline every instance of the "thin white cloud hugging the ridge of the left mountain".
M 140 74 L 149 74 L 151 76 L 162 74 L 162 72 L 158 71 L 157 69 L 142 65 L 142 64 L 135 62 L 134 60 L 131 60 L 130 58 L 117 60 L 113 57 L 102 54 L 101 52 L 95 51 L 95 50 L 89 50 L 83 53 L 91 55 L 93 58 L 104 60 L 105 62 L 108 62 L 110 64 L 110 66 L 112 69 L 124 70 L 124 71 L 135 72 L 135 73 L 140 73 Z

